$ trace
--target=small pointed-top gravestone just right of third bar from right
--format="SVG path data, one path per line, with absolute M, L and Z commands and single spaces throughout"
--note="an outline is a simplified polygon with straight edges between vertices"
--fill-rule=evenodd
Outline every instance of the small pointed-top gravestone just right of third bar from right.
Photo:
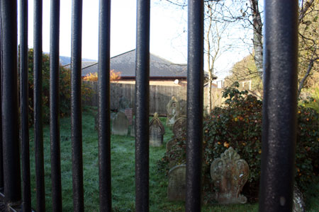
M 155 112 L 154 117 L 150 120 L 150 146 L 162 146 L 164 133 L 164 126 Z

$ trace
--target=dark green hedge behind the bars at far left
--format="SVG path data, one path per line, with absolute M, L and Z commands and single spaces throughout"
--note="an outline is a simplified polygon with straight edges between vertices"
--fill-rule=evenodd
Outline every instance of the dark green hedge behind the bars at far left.
M 50 57 L 43 54 L 42 64 L 42 101 L 43 101 L 43 122 L 50 121 Z M 70 113 L 71 99 L 71 74 L 69 69 L 60 66 L 59 76 L 59 98 L 60 117 L 65 117 Z M 29 124 L 33 124 L 33 49 L 28 50 L 28 96 L 29 96 Z M 82 84 L 82 100 L 86 100 L 91 95 L 92 90 Z

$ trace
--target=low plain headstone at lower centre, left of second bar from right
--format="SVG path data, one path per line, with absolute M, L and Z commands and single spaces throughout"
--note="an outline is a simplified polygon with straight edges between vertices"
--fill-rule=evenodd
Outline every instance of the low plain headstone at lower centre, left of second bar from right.
M 185 201 L 186 197 L 186 165 L 177 165 L 169 170 L 167 198 L 169 201 Z

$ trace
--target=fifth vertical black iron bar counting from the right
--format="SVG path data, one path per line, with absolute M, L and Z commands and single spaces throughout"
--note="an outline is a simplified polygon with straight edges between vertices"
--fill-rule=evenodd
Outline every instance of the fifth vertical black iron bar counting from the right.
M 82 0 L 72 1 L 71 46 L 71 126 L 72 126 L 72 181 L 74 211 L 84 211 L 82 159 Z

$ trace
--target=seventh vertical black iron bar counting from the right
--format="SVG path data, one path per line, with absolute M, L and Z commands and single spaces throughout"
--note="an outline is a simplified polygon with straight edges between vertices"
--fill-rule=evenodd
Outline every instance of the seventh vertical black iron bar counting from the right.
M 33 74 L 34 74 L 34 142 L 37 211 L 45 211 L 45 179 L 42 118 L 42 0 L 34 1 Z

